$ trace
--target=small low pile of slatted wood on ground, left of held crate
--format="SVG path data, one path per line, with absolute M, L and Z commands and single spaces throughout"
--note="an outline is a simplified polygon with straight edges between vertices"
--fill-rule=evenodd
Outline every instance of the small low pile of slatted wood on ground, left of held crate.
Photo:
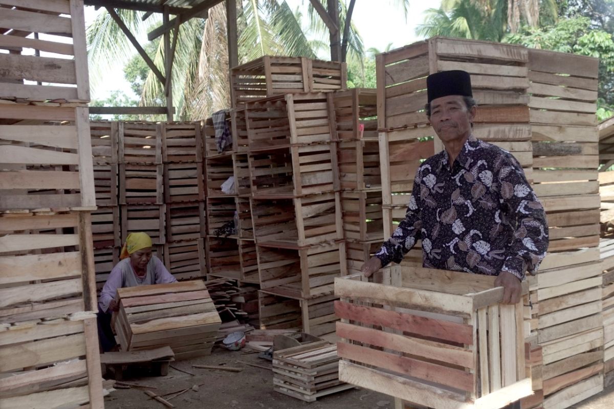
M 339 380 L 339 357 L 334 343 L 321 338 L 294 342 L 295 346 L 273 352 L 274 391 L 315 402 L 319 397 L 354 388 Z

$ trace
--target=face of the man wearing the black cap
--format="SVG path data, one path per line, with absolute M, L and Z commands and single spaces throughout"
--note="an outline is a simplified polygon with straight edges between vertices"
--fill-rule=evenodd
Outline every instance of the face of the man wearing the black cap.
M 467 110 L 460 95 L 435 98 L 430 102 L 430 124 L 442 142 L 462 140 L 471 134 L 476 108 Z

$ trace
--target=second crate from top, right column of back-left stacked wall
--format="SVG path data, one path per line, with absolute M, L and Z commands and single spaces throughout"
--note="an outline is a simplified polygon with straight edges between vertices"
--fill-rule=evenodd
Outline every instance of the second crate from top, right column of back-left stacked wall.
M 202 162 L 164 164 L 165 203 L 204 201 Z

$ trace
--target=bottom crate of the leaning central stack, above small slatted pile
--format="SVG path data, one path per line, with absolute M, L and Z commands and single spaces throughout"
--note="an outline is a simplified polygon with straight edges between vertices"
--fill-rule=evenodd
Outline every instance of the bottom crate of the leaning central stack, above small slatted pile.
M 295 329 L 333 342 L 337 299 L 332 293 L 304 299 L 258 291 L 260 329 Z

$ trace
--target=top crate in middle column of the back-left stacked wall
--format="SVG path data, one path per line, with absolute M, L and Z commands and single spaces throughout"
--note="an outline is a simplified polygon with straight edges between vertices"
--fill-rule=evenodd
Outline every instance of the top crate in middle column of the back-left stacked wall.
M 120 163 L 161 164 L 163 123 L 120 122 L 118 151 Z

